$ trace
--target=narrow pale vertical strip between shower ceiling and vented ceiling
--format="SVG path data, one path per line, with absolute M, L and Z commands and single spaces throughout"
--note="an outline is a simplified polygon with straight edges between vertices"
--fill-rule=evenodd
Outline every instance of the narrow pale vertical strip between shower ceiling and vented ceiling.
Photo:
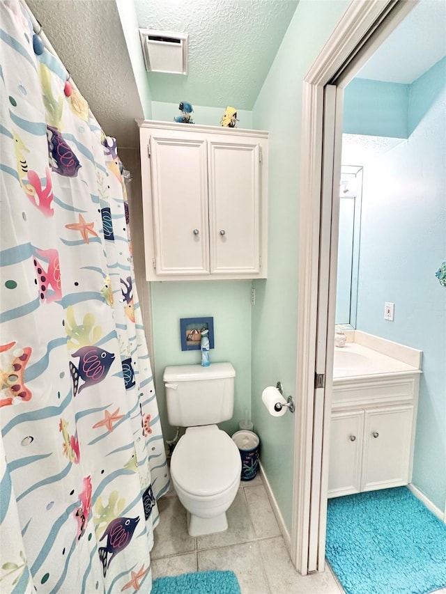
M 116 0 L 121 26 L 127 44 L 128 55 L 132 63 L 134 80 L 138 88 L 139 100 L 144 113 L 144 118 L 152 118 L 151 90 L 148 86 L 147 72 L 144 65 L 144 57 L 141 52 L 141 42 L 139 41 L 138 19 L 134 8 L 134 3 L 128 0 Z M 119 59 L 116 56 L 116 59 Z M 92 73 L 94 75 L 94 73 Z

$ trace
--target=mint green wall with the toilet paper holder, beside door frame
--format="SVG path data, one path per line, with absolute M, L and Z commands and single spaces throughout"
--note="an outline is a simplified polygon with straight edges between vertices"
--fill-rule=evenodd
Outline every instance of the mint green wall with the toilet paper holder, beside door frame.
M 253 283 L 252 419 L 261 438 L 261 463 L 289 531 L 294 416 L 270 416 L 261 393 L 280 380 L 286 395 L 295 396 L 302 79 L 348 3 L 300 0 L 253 109 L 254 128 L 270 136 L 268 279 Z

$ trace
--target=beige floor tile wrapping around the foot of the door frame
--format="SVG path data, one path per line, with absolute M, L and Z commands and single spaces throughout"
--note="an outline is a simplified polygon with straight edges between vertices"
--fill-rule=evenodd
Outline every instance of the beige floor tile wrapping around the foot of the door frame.
M 274 594 L 341 594 L 329 568 L 303 577 L 296 572 L 282 537 L 259 540 L 263 568 Z

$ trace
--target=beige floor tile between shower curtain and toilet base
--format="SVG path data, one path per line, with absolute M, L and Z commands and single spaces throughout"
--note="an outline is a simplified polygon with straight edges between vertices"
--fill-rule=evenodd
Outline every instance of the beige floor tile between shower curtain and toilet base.
M 195 550 L 195 538 L 187 533 L 186 510 L 178 497 L 162 497 L 158 500 L 160 524 L 154 531 L 152 559 L 169 555 L 189 553 Z

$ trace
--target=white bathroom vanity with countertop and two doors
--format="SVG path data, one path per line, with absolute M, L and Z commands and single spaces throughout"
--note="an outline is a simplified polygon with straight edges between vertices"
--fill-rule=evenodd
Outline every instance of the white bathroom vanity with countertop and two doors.
M 422 352 L 360 331 L 334 350 L 328 497 L 407 485 Z

